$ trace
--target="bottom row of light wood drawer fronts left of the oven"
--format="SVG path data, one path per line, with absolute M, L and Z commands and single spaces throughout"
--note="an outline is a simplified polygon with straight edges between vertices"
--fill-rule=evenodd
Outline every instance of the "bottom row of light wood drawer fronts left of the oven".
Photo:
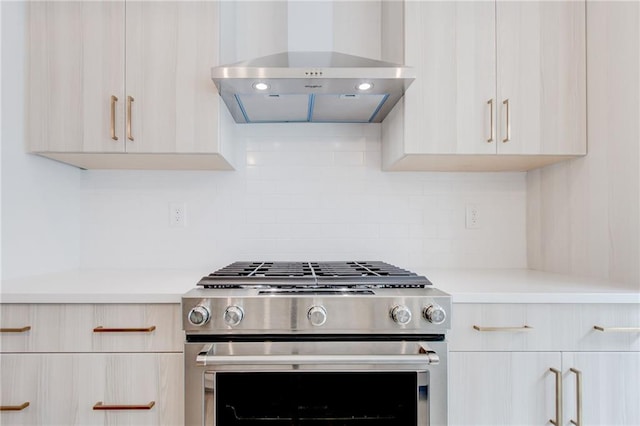
M 173 353 L 3 354 L 0 404 L 15 409 L 0 424 L 181 424 L 182 364 Z

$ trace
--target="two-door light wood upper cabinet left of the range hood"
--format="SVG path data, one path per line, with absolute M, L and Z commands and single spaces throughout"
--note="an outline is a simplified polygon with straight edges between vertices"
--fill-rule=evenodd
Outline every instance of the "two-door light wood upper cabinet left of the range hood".
M 29 2 L 27 144 L 81 168 L 232 169 L 218 2 Z

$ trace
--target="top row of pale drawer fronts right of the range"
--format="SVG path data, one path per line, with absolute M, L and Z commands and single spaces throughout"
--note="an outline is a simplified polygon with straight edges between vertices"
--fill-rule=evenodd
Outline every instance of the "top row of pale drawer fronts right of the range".
M 638 304 L 454 304 L 449 348 L 640 351 L 638 327 Z

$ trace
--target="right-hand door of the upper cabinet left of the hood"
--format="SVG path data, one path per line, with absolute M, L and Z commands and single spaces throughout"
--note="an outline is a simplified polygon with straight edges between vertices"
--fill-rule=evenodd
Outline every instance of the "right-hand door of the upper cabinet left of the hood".
M 127 2 L 127 152 L 221 151 L 211 81 L 218 7 L 212 1 Z

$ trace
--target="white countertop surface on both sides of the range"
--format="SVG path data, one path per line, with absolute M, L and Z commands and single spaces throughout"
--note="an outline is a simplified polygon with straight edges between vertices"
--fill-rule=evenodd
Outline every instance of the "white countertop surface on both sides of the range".
M 3 280 L 2 303 L 180 303 L 205 270 L 80 269 Z M 527 269 L 426 269 L 454 303 L 640 303 L 640 285 Z

